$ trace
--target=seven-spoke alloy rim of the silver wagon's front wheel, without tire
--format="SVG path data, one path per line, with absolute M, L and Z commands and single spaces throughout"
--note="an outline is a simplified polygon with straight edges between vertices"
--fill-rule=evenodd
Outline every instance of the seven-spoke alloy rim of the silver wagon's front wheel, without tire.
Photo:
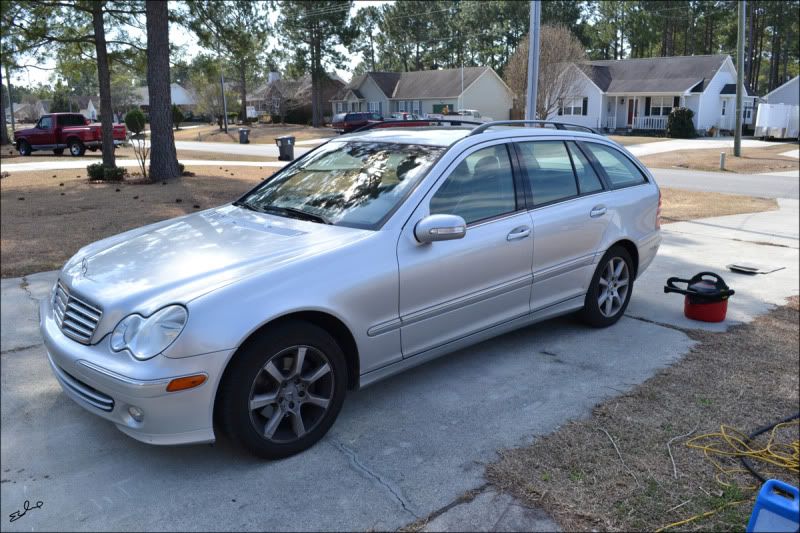
M 296 441 L 322 421 L 333 392 L 333 371 L 323 352 L 304 345 L 286 348 L 256 374 L 248 402 L 250 420 L 270 442 Z

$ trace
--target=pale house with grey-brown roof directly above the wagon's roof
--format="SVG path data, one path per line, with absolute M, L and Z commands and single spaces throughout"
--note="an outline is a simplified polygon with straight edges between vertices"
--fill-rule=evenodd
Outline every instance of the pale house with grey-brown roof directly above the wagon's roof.
M 370 111 L 388 116 L 399 111 L 424 115 L 447 107 L 477 109 L 505 120 L 513 104 L 511 89 L 489 67 L 367 72 L 357 76 L 331 99 L 334 113 Z

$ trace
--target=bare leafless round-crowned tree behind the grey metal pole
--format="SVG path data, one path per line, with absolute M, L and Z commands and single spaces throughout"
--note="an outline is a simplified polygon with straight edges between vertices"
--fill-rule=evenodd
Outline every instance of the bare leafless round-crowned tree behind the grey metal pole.
M 514 91 L 517 105 L 525 102 L 528 89 L 528 42 L 528 36 L 525 35 L 504 73 L 506 84 Z M 577 65 L 585 59 L 583 45 L 567 28 L 542 26 L 539 86 L 536 93 L 537 118 L 547 118 L 558 109 L 561 100 L 573 96 L 573 87 L 581 77 Z

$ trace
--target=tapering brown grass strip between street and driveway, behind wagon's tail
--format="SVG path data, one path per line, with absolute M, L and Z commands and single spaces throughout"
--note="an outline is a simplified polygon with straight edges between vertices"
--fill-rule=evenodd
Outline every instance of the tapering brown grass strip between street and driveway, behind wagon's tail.
M 778 209 L 778 202 L 773 198 L 668 188 L 662 188 L 661 194 L 663 200 L 661 216 L 665 224 Z

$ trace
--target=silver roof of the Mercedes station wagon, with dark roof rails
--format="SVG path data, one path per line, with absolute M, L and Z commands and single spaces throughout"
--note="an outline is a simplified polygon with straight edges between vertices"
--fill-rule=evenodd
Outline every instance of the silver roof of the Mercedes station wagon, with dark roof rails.
M 339 137 L 348 141 L 378 141 L 399 144 L 424 144 L 431 146 L 450 146 L 469 136 L 473 127 L 465 126 L 421 126 L 397 128 L 375 128 L 363 132 L 354 132 Z M 554 128 L 529 128 L 520 126 L 495 126 L 474 136 L 476 141 L 514 137 L 572 137 L 585 139 L 602 139 L 607 137 L 593 133 L 573 130 L 557 130 Z

